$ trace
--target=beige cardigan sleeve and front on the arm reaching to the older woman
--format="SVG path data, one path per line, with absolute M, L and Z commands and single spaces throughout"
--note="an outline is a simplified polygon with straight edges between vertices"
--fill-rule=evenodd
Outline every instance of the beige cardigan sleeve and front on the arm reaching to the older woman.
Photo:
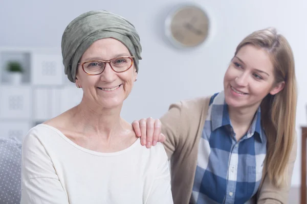
M 210 97 L 181 100 L 171 104 L 161 120 L 163 142 L 171 159 L 171 191 L 174 203 L 189 203 L 196 171 L 199 140 Z

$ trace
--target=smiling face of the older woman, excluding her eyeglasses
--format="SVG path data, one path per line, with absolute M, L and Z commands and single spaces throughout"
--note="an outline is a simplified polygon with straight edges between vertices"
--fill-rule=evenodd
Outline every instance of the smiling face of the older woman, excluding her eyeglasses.
M 127 47 L 113 38 L 95 41 L 82 55 L 80 62 L 88 60 L 111 60 L 117 57 L 131 56 Z M 84 96 L 90 101 L 105 108 L 121 106 L 127 98 L 135 79 L 136 68 L 133 65 L 124 72 L 115 72 L 106 63 L 103 72 L 99 75 L 89 75 L 78 66 L 76 84 L 82 87 Z

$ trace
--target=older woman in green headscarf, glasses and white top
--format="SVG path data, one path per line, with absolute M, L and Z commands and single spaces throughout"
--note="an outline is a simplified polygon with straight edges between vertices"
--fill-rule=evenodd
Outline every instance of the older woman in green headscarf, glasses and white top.
M 141 50 L 134 25 L 107 11 L 67 26 L 63 64 L 83 98 L 26 135 L 21 203 L 173 203 L 163 145 L 142 147 L 120 117 Z

